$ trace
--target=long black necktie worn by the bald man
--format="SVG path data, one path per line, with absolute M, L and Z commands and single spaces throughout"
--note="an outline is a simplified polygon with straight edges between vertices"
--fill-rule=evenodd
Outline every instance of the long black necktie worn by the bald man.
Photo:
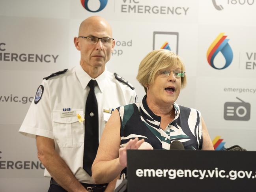
M 83 168 L 90 176 L 92 176 L 92 163 L 99 147 L 98 104 L 94 93 L 96 85 L 95 80 L 90 80 L 88 83 L 90 92 L 85 105 Z

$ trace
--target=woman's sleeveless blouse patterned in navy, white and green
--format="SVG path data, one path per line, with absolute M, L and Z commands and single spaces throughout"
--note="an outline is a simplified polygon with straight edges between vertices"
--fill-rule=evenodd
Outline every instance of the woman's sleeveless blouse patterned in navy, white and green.
M 170 149 L 179 140 L 185 149 L 202 149 L 202 119 L 198 110 L 173 104 L 175 117 L 165 130 L 160 128 L 161 117 L 155 115 L 146 103 L 146 95 L 139 103 L 118 107 L 120 114 L 120 147 L 132 138 L 144 138 L 144 147 Z M 141 146 L 143 147 L 143 146 Z

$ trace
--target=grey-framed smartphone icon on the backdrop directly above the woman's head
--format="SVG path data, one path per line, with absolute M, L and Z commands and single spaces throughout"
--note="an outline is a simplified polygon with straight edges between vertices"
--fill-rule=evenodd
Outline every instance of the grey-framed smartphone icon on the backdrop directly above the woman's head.
M 178 47 L 178 32 L 153 32 L 153 50 L 164 48 L 178 54 Z

